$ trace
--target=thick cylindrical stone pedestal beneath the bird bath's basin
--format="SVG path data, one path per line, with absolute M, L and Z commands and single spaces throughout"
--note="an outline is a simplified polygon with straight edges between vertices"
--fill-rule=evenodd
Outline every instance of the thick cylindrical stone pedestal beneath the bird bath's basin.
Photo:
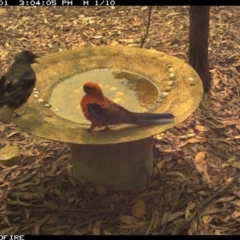
M 147 184 L 153 172 L 151 138 L 113 145 L 70 144 L 73 174 L 80 183 L 128 191 Z

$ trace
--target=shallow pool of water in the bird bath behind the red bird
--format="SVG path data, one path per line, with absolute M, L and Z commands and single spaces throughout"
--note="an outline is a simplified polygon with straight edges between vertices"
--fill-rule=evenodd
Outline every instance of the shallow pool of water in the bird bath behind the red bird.
M 141 75 L 97 69 L 61 81 L 50 98 L 52 110 L 71 121 L 89 123 L 80 108 L 80 100 L 85 95 L 82 87 L 86 82 L 97 83 L 106 97 L 134 112 L 152 111 L 156 109 L 160 99 L 157 86 Z

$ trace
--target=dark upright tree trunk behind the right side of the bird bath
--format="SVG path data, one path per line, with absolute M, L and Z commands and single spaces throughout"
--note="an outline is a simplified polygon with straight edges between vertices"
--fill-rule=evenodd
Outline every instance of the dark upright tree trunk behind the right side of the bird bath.
M 204 92 L 210 88 L 208 64 L 209 6 L 190 6 L 189 63 L 202 79 Z

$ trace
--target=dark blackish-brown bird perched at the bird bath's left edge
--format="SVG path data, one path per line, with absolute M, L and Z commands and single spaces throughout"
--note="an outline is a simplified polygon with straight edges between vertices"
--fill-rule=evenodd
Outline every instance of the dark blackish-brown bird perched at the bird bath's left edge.
M 10 123 L 14 110 L 30 97 L 36 84 L 31 64 L 37 62 L 36 58 L 39 56 L 30 51 L 16 54 L 12 66 L 0 79 L 0 122 Z

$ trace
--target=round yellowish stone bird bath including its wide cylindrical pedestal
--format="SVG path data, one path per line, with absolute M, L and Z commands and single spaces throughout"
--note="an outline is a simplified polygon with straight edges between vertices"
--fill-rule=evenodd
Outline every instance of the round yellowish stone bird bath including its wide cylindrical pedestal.
M 37 74 L 38 92 L 32 94 L 25 114 L 15 118 L 14 123 L 36 136 L 68 143 L 73 174 L 80 183 L 92 183 L 117 191 L 145 186 L 153 172 L 152 136 L 181 123 L 198 107 L 202 99 L 202 83 L 197 73 L 178 58 L 155 50 L 120 46 L 90 47 L 49 54 L 39 62 L 33 66 Z M 115 79 L 114 83 L 109 80 L 109 89 L 122 79 L 125 83 L 129 79 L 132 81 L 131 77 L 126 77 L 130 73 L 138 76 L 134 78 L 135 81 L 142 77 L 150 80 L 154 86 L 152 90 L 147 87 L 142 91 L 146 96 L 153 96 L 149 98 L 152 100 L 149 100 L 145 109 L 142 103 L 139 106 L 143 107 L 143 111 L 147 109 L 156 113 L 173 113 L 174 122 L 164 125 L 120 125 L 109 131 L 96 129 L 92 133 L 86 131 L 90 122 L 81 117 L 78 107 L 83 95 L 81 87 L 88 81 L 101 84 L 103 77 L 100 73 L 96 74 L 96 71 L 103 69 L 111 69 L 115 74 L 120 74 L 118 76 L 123 75 Z M 91 76 L 94 71 L 94 79 L 85 79 L 88 76 L 85 73 Z M 66 93 L 66 88 L 65 93 L 62 91 L 65 94 L 62 96 L 64 101 L 60 104 L 62 99 L 59 98 L 59 101 L 54 102 L 58 87 L 67 81 L 70 83 L 73 78 L 77 85 L 75 93 L 79 94 L 79 98 L 75 99 L 74 94 Z M 124 100 L 125 96 L 121 99 Z M 129 110 L 139 110 L 131 109 L 132 101 L 128 100 L 126 105 L 118 103 Z M 62 114 L 67 106 L 76 110 L 79 121 L 76 115 L 71 117 Z

